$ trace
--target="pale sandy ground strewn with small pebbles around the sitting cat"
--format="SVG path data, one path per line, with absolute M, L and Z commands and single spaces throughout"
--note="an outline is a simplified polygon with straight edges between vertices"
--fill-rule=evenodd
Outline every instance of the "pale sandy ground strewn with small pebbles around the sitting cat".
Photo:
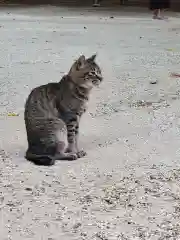
M 1 240 L 180 239 L 180 79 L 169 75 L 180 72 L 180 19 L 169 16 L 0 10 Z M 23 157 L 27 95 L 94 52 L 105 80 L 82 119 L 87 157 L 34 166 Z

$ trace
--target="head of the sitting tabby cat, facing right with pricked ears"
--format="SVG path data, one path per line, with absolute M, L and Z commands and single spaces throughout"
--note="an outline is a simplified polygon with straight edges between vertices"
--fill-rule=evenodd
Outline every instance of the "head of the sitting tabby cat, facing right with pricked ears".
M 72 81 L 84 88 L 91 89 L 93 86 L 99 86 L 103 77 L 101 69 L 95 62 L 96 54 L 90 58 L 81 55 L 72 65 L 68 75 Z

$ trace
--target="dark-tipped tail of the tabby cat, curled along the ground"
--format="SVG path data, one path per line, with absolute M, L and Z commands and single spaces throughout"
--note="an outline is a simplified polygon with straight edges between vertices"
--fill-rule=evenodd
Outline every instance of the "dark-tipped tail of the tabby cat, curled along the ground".
M 27 151 L 25 158 L 39 166 L 52 166 L 55 164 L 55 159 L 48 155 L 36 155 Z

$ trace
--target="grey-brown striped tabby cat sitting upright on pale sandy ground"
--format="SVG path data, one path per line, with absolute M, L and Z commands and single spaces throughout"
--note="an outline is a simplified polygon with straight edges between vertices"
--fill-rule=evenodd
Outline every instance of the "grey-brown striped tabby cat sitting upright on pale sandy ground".
M 103 80 L 95 58 L 80 56 L 60 82 L 31 91 L 24 112 L 27 160 L 49 166 L 55 160 L 76 160 L 86 155 L 78 148 L 79 121 L 91 89 Z

